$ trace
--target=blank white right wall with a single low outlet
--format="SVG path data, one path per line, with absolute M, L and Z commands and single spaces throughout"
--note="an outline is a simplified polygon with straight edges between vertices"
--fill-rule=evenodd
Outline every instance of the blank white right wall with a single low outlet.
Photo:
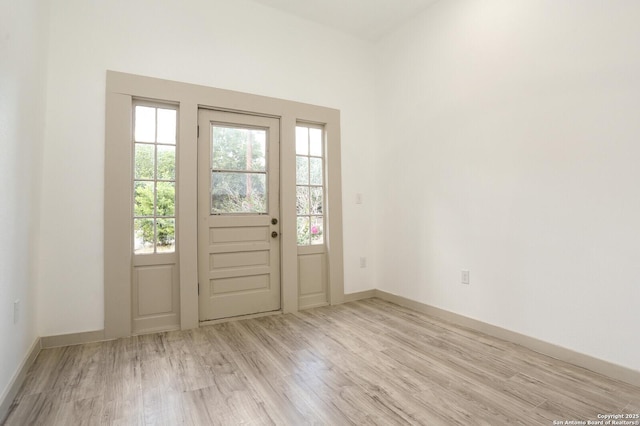
M 447 0 L 380 44 L 377 288 L 640 370 L 638 22 Z

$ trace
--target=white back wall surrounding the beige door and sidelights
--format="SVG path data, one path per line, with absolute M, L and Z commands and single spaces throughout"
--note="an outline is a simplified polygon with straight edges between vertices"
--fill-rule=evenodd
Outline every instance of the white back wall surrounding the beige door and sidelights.
M 245 0 L 52 0 L 50 27 L 42 335 L 103 327 L 107 69 L 340 109 L 345 291 L 372 288 L 354 202 L 372 184 L 372 45 Z

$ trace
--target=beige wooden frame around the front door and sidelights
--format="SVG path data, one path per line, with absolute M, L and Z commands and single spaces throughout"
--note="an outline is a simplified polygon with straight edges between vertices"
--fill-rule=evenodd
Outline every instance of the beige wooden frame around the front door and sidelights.
M 133 99 L 179 105 L 176 250 L 179 263 L 180 328 L 198 327 L 197 125 L 198 109 L 254 113 L 280 118 L 282 310 L 298 310 L 295 196 L 295 126 L 324 126 L 329 301 L 344 300 L 340 111 L 247 93 L 107 71 L 105 140 L 104 288 L 105 338 L 131 335 L 131 120 Z M 291 190 L 293 188 L 293 190 Z

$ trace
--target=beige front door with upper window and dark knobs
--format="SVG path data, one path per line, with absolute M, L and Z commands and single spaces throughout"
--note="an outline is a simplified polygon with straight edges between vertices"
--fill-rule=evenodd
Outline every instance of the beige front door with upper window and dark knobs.
M 200 321 L 280 309 L 277 118 L 198 116 Z

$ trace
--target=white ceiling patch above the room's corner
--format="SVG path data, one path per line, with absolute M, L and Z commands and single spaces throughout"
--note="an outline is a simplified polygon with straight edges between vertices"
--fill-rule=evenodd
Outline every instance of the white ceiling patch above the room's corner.
M 437 0 L 254 0 L 266 6 L 377 41 Z

